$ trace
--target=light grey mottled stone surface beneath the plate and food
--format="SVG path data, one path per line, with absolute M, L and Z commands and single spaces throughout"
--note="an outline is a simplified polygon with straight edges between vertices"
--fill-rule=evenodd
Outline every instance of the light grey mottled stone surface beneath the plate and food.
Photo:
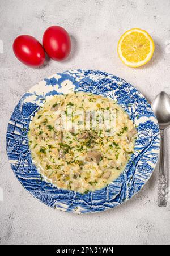
M 24 190 L 8 163 L 5 138 L 8 119 L 22 94 L 56 72 L 104 70 L 133 83 L 150 102 L 161 90 L 170 94 L 169 13 L 169 0 L 0 0 L 0 244 L 170 244 L 170 199 L 167 208 L 156 204 L 158 168 L 145 188 L 124 205 L 77 216 L 54 211 Z M 71 35 L 69 59 L 49 61 L 40 69 L 16 60 L 15 37 L 30 34 L 41 41 L 52 24 Z M 154 58 L 139 69 L 124 66 L 116 53 L 121 34 L 133 27 L 150 32 L 156 44 Z M 167 160 L 169 136 L 170 131 Z

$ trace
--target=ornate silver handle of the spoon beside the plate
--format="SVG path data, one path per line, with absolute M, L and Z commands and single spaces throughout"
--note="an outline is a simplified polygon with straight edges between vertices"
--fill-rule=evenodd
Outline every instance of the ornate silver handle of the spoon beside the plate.
M 160 146 L 160 166 L 158 179 L 158 206 L 167 206 L 167 170 L 165 167 L 165 148 L 164 148 L 164 131 L 160 131 L 161 146 Z

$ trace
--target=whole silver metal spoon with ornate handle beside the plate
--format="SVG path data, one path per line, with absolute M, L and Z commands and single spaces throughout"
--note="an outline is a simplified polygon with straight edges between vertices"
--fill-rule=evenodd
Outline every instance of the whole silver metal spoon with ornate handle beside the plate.
M 152 102 L 152 108 L 158 119 L 161 147 L 160 147 L 160 166 L 158 179 L 158 205 L 159 207 L 167 206 L 167 170 L 165 166 L 165 149 L 164 149 L 164 131 L 170 125 L 170 98 L 167 93 L 162 91 Z

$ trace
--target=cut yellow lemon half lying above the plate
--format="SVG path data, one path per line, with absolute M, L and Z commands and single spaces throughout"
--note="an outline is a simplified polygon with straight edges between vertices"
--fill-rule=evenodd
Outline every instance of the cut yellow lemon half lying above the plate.
M 131 68 L 138 68 L 151 60 L 155 50 L 152 37 L 140 28 L 132 28 L 118 41 L 117 52 L 121 61 Z

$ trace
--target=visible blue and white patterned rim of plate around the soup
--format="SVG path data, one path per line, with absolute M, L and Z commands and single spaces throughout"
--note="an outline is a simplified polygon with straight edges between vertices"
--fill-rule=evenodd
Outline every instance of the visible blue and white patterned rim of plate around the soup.
M 124 172 L 109 186 L 86 195 L 56 188 L 42 180 L 28 146 L 29 123 L 44 99 L 71 91 L 88 91 L 117 100 L 138 127 L 135 153 Z M 15 107 L 6 139 L 12 170 L 24 188 L 52 208 L 76 213 L 104 211 L 130 199 L 150 179 L 160 150 L 158 122 L 145 97 L 123 79 L 94 70 L 57 73 L 33 86 Z

